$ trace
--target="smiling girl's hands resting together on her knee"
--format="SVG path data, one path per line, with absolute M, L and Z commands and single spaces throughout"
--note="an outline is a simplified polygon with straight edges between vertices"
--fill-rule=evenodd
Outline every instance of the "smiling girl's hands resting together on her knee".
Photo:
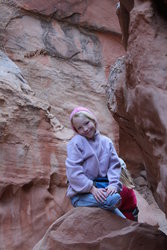
M 90 193 L 93 194 L 95 199 L 99 202 L 103 202 L 106 200 L 108 195 L 114 194 L 117 192 L 117 189 L 111 185 L 106 188 L 96 188 L 93 186 L 90 190 Z

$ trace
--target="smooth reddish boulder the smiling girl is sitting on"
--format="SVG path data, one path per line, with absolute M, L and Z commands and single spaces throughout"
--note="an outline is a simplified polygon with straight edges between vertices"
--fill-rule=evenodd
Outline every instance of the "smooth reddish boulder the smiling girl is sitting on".
M 55 221 L 33 250 L 165 250 L 156 227 L 124 220 L 100 208 L 75 208 Z

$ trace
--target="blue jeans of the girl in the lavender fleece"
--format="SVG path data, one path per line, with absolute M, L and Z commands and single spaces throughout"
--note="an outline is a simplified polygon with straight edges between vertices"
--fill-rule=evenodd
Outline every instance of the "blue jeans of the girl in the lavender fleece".
M 126 218 L 117 208 L 120 201 L 121 196 L 118 193 L 109 195 L 103 202 L 98 202 L 93 194 L 90 193 L 77 194 L 71 197 L 71 203 L 74 207 L 100 207 L 102 209 L 110 210 L 122 218 Z

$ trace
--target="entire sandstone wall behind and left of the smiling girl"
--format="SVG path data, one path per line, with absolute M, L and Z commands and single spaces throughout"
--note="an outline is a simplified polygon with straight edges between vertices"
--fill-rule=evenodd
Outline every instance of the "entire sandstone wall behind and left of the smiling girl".
M 2 250 L 32 249 L 71 208 L 64 162 L 76 105 L 94 110 L 118 148 L 104 88 L 124 54 L 115 11 L 108 0 L 0 1 Z

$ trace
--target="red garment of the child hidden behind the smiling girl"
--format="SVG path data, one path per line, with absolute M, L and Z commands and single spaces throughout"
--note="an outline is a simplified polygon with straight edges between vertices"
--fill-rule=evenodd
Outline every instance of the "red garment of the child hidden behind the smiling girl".
M 135 220 L 132 212 L 137 207 L 137 199 L 133 189 L 129 189 L 126 186 L 123 186 L 123 189 L 120 193 L 122 197 L 122 203 L 119 207 L 120 211 L 126 216 L 129 220 Z

